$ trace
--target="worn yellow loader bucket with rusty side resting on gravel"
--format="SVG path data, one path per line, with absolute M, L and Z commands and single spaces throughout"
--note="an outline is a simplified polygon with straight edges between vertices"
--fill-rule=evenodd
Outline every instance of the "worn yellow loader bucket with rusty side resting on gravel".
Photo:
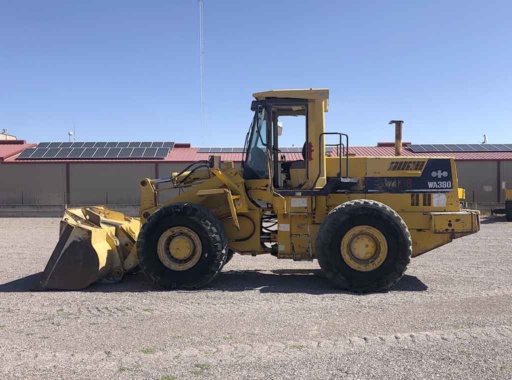
M 60 221 L 60 237 L 40 289 L 83 289 L 102 280 L 117 282 L 138 268 L 138 218 L 105 206 L 68 208 Z

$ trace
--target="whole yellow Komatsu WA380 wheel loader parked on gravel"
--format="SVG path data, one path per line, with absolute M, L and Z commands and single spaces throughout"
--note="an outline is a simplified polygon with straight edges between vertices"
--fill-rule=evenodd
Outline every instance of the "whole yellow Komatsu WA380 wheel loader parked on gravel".
M 141 269 L 169 289 L 215 279 L 233 254 L 318 260 L 336 286 L 389 289 L 417 257 L 480 229 L 461 209 L 453 158 L 355 157 L 349 137 L 325 132 L 329 90 L 253 94 L 242 167 L 220 156 L 168 178 L 140 181 L 139 218 L 104 206 L 67 209 L 40 279 L 44 289 L 119 281 Z M 288 116 L 304 122 L 302 159 L 280 149 Z M 335 141 L 327 144 L 326 140 Z M 159 194 L 180 188 L 160 203 Z

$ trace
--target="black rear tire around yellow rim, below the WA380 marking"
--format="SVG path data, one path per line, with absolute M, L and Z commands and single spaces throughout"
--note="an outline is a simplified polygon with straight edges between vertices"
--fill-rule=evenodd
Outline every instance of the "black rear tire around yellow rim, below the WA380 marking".
M 356 270 L 354 263 L 345 259 L 347 255 L 342 255 L 344 236 L 357 226 L 366 226 L 385 239 L 382 245 L 387 254 L 375 268 L 367 265 Z M 337 206 L 326 217 L 318 231 L 316 251 L 318 263 L 331 282 L 366 293 L 388 290 L 400 280 L 410 262 L 412 240 L 407 225 L 392 208 L 376 201 L 354 200 Z

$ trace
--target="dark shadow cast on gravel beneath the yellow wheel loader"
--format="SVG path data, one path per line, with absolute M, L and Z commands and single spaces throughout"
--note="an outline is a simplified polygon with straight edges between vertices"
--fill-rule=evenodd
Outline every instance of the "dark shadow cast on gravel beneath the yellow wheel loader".
M 42 272 L 34 273 L 5 284 L 0 284 L 0 292 L 32 292 L 37 291 L 37 283 Z M 424 291 L 428 289 L 415 276 L 404 275 L 390 291 Z M 228 270 L 198 290 L 205 291 L 244 291 L 259 290 L 261 293 L 307 293 L 307 294 L 357 294 L 333 287 L 321 269 L 274 269 L 261 270 Z M 56 290 L 61 291 L 61 290 Z M 95 283 L 81 292 L 144 292 L 168 291 L 147 279 L 142 272 L 125 276 L 121 282 L 114 284 Z

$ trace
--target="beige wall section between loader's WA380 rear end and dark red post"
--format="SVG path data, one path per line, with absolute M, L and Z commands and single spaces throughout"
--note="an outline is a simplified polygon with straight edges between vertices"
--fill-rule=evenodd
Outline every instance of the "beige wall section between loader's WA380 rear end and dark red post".
M 468 202 L 498 202 L 497 161 L 455 161 L 455 164 L 459 187 L 466 189 Z

